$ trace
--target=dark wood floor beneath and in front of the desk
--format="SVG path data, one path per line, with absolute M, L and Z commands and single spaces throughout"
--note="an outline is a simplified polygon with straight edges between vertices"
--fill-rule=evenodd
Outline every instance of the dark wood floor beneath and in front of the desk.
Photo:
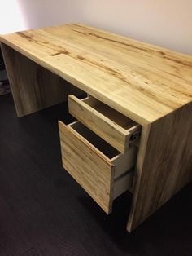
M 107 216 L 62 169 L 66 104 L 17 118 L 0 96 L 0 255 L 192 255 L 192 184 L 129 234 L 131 196 Z M 124 210 L 126 205 L 127 210 Z

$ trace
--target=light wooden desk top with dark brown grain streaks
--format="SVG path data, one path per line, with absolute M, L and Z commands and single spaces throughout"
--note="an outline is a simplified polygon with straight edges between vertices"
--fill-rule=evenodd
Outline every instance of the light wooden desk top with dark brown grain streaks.
M 1 36 L 0 40 L 140 124 L 192 99 L 192 56 L 65 24 Z

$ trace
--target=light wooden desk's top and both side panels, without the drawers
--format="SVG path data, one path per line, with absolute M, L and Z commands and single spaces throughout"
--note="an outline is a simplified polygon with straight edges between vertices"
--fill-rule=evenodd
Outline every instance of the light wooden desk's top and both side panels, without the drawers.
M 66 80 L 142 126 L 129 232 L 190 182 L 192 56 L 83 24 L 12 33 L 1 42 L 19 117 L 67 99 L 74 90 Z

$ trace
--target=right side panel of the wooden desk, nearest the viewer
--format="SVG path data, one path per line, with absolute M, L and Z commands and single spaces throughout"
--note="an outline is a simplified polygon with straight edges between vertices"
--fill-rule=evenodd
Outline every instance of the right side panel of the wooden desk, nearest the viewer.
M 192 104 L 143 127 L 140 144 L 129 232 L 192 179 Z

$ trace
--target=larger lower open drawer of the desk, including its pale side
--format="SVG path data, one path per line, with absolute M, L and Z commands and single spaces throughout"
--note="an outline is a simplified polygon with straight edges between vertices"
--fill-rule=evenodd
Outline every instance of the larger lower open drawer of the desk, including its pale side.
M 110 214 L 112 201 L 132 187 L 137 148 L 123 155 L 79 121 L 59 121 L 59 135 L 63 168 Z

